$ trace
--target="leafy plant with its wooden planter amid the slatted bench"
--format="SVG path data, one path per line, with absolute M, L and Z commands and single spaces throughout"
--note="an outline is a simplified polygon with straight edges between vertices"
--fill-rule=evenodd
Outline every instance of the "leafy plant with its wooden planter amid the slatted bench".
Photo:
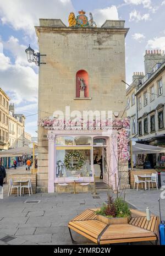
M 122 198 L 113 200 L 108 198 L 108 204 L 104 203 L 100 210 L 96 211 L 97 220 L 110 224 L 128 224 L 131 219 L 130 208 Z

